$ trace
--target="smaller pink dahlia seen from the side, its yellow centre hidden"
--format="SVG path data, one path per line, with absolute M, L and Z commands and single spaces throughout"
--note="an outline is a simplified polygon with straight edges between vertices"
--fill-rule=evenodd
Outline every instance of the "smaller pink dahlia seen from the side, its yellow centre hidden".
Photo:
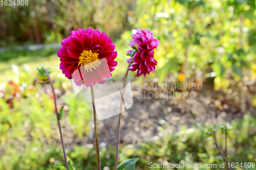
M 130 46 L 135 48 L 135 54 L 132 57 L 133 63 L 129 67 L 130 71 L 137 71 L 137 76 L 143 74 L 150 74 L 150 72 L 155 72 L 157 61 L 154 59 L 154 49 L 160 44 L 160 41 L 153 39 L 153 32 L 145 29 L 137 29 L 136 34 L 131 34 L 134 40 L 130 41 Z M 127 53 L 132 53 L 133 50 L 127 51 Z M 132 58 L 127 59 L 130 63 Z

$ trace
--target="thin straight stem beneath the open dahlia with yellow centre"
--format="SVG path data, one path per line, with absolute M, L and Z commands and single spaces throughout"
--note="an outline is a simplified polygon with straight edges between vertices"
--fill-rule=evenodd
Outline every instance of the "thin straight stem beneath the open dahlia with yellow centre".
M 93 85 L 90 86 L 90 89 L 91 89 L 92 103 L 93 103 L 93 118 L 94 118 L 95 142 L 96 142 L 96 152 L 97 152 L 97 165 L 98 165 L 98 170 L 100 170 L 99 139 L 98 139 L 98 128 L 97 128 L 97 115 L 96 115 L 96 109 L 94 105 L 95 96 L 94 96 Z

